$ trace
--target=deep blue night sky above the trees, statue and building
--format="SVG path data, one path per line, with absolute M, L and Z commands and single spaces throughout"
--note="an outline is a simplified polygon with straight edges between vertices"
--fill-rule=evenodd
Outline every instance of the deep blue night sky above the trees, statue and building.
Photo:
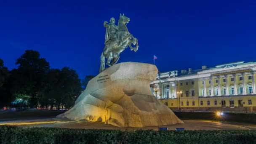
M 253 2 L 254 1 L 254 2 Z M 104 21 L 124 13 L 139 40 L 120 62 L 153 63 L 160 72 L 256 61 L 255 0 L 1 0 L 0 58 L 16 67 L 26 49 L 52 68 L 70 67 L 80 78 L 99 73 Z M 116 23 L 117 24 L 117 23 Z

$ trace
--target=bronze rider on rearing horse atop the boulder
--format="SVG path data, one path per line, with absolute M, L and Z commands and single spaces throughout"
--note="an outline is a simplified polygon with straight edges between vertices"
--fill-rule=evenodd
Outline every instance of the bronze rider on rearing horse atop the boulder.
M 110 19 L 110 24 L 107 21 L 104 22 L 104 27 L 106 27 L 106 37 L 105 37 L 105 47 L 101 53 L 101 67 L 99 72 L 105 69 L 105 58 L 107 58 L 107 65 L 111 67 L 116 64 L 120 58 L 120 53 L 125 50 L 128 46 L 131 51 L 136 52 L 139 48 L 138 40 L 131 35 L 128 31 L 126 24 L 130 21 L 130 18 L 126 17 L 124 14 L 120 14 L 118 20 L 118 25 L 115 25 L 115 19 Z M 132 47 L 132 45 L 136 47 Z

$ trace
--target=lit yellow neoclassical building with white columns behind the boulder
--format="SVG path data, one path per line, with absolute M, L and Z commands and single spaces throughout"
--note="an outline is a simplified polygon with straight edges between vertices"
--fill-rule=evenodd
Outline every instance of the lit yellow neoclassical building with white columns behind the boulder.
M 238 61 L 215 67 L 157 75 L 154 95 L 173 110 L 256 111 L 256 62 Z

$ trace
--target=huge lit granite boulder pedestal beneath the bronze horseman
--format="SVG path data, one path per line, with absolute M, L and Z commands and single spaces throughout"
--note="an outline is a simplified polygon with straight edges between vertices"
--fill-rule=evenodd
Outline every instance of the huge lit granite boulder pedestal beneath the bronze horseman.
M 75 106 L 57 117 L 118 127 L 183 123 L 152 94 L 149 83 L 156 79 L 157 72 L 152 64 L 115 64 L 90 80 Z

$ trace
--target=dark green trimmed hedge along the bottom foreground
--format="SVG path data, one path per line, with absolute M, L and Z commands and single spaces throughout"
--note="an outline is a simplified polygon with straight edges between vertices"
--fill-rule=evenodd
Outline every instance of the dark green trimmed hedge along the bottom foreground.
M 0 126 L 1 144 L 256 144 L 256 131 L 121 131 Z

